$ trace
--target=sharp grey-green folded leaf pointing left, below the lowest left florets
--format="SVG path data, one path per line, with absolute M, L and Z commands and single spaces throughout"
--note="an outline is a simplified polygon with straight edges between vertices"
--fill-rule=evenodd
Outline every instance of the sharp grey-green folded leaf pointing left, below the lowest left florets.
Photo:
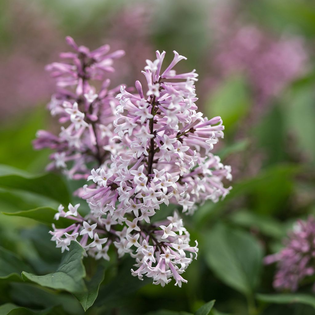
M 22 277 L 43 287 L 65 290 L 71 293 L 83 292 L 86 290 L 83 281 L 85 277 L 85 268 L 82 262 L 84 252 L 79 243 L 71 241 L 69 252 L 56 272 L 44 276 L 22 272 Z

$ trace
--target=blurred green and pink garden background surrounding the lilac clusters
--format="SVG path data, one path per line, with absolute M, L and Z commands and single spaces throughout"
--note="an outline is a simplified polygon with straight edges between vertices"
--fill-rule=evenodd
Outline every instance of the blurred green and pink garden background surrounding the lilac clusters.
M 111 267 L 88 312 L 193 312 L 216 299 L 213 314 L 315 314 L 310 305 L 270 303 L 257 295 L 275 293 L 274 266 L 263 266 L 263 257 L 281 248 L 297 218 L 315 214 L 315 2 L 0 1 L 1 176 L 44 171 L 49 151 L 34 151 L 31 141 L 37 129 L 58 132 L 46 110 L 54 82 L 44 66 L 68 51 L 66 35 L 91 49 L 104 43 L 124 49 L 109 76 L 115 84 L 133 85 L 157 49 L 169 58 L 173 50 L 186 56 L 179 67 L 199 73 L 199 108 L 209 118 L 220 115 L 226 126 L 216 152 L 233 175 L 224 201 L 205 203 L 186 220 L 200 243 L 198 260 L 186 272 L 188 284 L 160 288 L 132 278 L 128 268 L 123 274 Z M 27 185 L 11 186 L 0 177 L 3 212 L 55 205 Z M 38 274 L 60 262 L 47 231 L 30 219 L 0 215 L 1 246 Z M 311 292 L 311 284 L 300 290 Z M 83 313 L 66 293 L 57 298 L 18 282 L 1 282 L 0 292 L 1 303 L 41 309 L 57 301 L 66 314 Z

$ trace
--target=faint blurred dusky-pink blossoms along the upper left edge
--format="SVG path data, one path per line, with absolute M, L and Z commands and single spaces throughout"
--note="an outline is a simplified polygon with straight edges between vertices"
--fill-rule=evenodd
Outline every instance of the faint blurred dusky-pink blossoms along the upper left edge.
M 54 84 L 47 80 L 44 65 L 64 47 L 41 5 L 13 0 L 6 9 L 11 18 L 6 24 L 10 42 L 0 54 L 2 119 L 47 100 Z

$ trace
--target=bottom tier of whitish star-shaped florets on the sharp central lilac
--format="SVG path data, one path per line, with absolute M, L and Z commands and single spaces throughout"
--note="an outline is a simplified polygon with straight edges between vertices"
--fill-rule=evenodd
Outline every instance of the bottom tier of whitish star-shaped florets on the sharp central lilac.
M 64 229 L 57 229 L 53 225 L 51 240 L 56 242 L 56 247 L 61 251 L 69 250 L 72 240 L 77 241 L 86 250 L 86 254 L 96 260 L 110 260 L 108 250 L 111 244 L 117 249 L 118 257 L 128 253 L 136 260 L 137 268 L 131 269 L 132 275 L 143 280 L 143 275 L 153 278 L 153 284 L 168 284 L 172 278 L 175 285 L 181 287 L 182 282 L 187 283 L 181 274 L 192 262 L 193 254 L 197 259 L 198 242 L 189 245 L 190 235 L 183 226 L 183 221 L 174 212 L 166 220 L 155 222 L 151 225 L 141 224 L 138 218 L 133 221 L 125 220 L 124 226 L 116 230 L 113 226 L 122 224 L 117 215 L 106 217 L 78 214 L 79 204 L 69 204 L 65 212 L 59 206 L 55 219 L 59 217 L 71 218 L 75 221 Z M 164 225 L 163 225 L 164 224 Z

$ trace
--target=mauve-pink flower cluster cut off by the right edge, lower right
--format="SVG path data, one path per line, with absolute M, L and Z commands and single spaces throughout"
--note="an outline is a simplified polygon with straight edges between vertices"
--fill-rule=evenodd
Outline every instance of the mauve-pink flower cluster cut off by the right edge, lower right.
M 297 221 L 286 247 L 279 253 L 265 257 L 266 264 L 277 262 L 273 286 L 296 291 L 301 281 L 315 274 L 315 220 Z M 315 284 L 314 284 L 315 288 Z

